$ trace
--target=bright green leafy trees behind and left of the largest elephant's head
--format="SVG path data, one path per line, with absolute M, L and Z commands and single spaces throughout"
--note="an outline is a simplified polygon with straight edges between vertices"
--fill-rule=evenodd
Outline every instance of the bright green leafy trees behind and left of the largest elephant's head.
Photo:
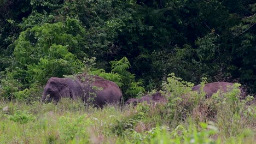
M 14 95 L 11 98 L 25 99 L 30 95 L 28 93 L 33 91 L 33 89 L 24 90 L 25 88 L 38 88 L 51 76 L 62 77 L 64 74 L 82 71 L 83 63 L 77 57 L 84 54 L 76 51 L 83 35 L 83 28 L 79 27 L 78 23 L 78 20 L 67 19 L 65 23 L 44 23 L 42 26 L 21 32 L 15 42 L 12 68 L 6 70 L 8 76 L 2 79 L 2 83 L 7 83 L 2 88 L 5 98 L 11 94 Z M 16 90 L 13 91 L 10 90 L 9 83 L 20 86 L 15 86 Z M 18 92 L 18 90 L 24 91 Z M 21 93 L 24 96 L 21 96 Z

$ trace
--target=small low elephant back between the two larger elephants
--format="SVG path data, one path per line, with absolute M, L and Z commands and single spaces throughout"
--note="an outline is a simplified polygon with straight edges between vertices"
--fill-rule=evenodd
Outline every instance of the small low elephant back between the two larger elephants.
M 137 103 L 143 103 L 143 101 L 146 101 L 148 104 L 156 104 L 156 103 L 167 103 L 167 98 L 162 96 L 160 92 L 156 92 L 154 94 L 147 94 L 144 95 L 141 99 L 136 98 L 130 98 L 125 101 L 125 105 L 132 104 L 133 106 L 136 106 Z

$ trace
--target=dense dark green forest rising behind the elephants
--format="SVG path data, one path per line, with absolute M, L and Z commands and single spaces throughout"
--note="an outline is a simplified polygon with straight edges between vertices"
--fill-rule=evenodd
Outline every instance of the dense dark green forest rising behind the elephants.
M 4 99 L 82 72 L 119 83 L 125 97 L 160 89 L 170 73 L 256 92 L 253 0 L 5 0 L 0 11 Z

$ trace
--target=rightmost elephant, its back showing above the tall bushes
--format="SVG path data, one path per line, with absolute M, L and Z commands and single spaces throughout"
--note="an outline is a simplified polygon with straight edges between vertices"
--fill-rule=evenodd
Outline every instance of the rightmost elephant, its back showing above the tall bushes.
M 228 92 L 232 89 L 232 86 L 234 83 L 230 82 L 212 82 L 205 84 L 205 87 L 203 87 L 203 91 L 206 93 L 206 98 L 212 97 L 214 93 L 217 93 L 220 89 L 221 92 Z M 196 85 L 192 88 L 192 91 L 200 91 L 200 85 Z M 242 88 L 240 88 L 240 97 L 245 97 L 245 92 L 243 92 Z

